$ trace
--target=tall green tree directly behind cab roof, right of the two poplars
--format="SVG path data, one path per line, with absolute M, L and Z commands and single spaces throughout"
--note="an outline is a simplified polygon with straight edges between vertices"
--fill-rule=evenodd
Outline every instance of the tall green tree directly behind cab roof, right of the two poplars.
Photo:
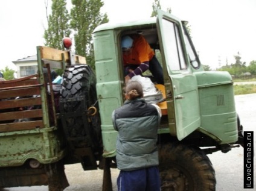
M 101 14 L 104 5 L 101 0 L 72 0 L 71 28 L 74 30 L 75 52 L 86 57 L 87 63 L 95 69 L 92 32 L 101 23 L 109 21 L 107 14 Z

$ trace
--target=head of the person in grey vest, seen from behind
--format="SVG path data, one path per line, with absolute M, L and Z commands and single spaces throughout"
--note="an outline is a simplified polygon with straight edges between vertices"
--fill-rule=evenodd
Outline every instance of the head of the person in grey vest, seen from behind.
M 143 98 L 143 89 L 138 81 L 129 81 L 124 90 L 126 92 L 126 99 L 134 100 Z

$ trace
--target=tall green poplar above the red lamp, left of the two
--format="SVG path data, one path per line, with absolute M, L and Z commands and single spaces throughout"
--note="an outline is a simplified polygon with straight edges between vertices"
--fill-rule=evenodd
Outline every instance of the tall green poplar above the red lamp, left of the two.
M 46 12 L 47 12 L 46 4 Z M 70 15 L 66 9 L 66 0 L 53 0 L 51 5 L 52 13 L 47 16 L 48 29 L 45 30 L 45 46 L 51 48 L 64 49 L 62 45 L 63 37 L 69 37 L 71 29 L 69 25 Z M 46 13 L 47 14 L 47 13 Z

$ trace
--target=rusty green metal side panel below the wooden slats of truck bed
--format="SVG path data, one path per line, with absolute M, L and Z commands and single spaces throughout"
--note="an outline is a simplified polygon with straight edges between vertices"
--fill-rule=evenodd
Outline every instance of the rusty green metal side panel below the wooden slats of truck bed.
M 42 164 L 64 156 L 56 128 L 14 131 L 0 134 L 0 167 L 21 166 L 30 158 Z

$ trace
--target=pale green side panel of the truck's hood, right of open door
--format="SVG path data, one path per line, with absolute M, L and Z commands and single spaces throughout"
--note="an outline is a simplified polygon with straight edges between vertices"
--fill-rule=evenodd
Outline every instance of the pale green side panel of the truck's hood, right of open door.
M 238 139 L 232 77 L 228 72 L 198 72 L 201 125 L 221 144 Z

